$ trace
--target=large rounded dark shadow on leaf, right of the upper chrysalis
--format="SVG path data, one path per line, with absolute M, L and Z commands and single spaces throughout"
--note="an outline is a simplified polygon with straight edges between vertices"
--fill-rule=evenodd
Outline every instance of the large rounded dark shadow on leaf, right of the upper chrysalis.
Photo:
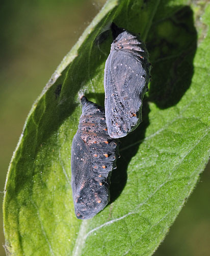
M 180 7 L 172 16 L 151 26 L 147 38 L 153 67 L 149 101 L 160 109 L 179 102 L 192 81 L 196 48 L 197 32 L 189 6 Z

